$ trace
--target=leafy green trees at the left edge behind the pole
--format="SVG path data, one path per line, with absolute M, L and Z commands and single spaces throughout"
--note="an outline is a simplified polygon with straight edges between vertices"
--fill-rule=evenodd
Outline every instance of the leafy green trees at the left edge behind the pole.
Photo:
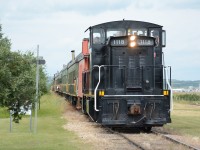
M 40 66 L 39 95 L 47 93 L 45 67 Z M 13 121 L 21 119 L 21 108 L 34 105 L 36 57 L 31 51 L 11 51 L 11 40 L 2 33 L 0 25 L 0 107 L 12 111 Z

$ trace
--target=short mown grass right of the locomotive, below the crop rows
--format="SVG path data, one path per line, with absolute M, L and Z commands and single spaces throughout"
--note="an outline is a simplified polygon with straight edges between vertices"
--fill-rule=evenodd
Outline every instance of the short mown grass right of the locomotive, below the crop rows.
M 172 132 L 200 138 L 200 106 L 187 101 L 175 101 L 172 123 L 165 126 Z

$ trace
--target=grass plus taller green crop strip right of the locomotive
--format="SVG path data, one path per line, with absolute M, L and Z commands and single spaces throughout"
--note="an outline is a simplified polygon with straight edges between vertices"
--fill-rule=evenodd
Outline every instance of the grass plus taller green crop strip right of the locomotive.
M 172 123 L 166 129 L 200 138 L 200 94 L 175 94 Z

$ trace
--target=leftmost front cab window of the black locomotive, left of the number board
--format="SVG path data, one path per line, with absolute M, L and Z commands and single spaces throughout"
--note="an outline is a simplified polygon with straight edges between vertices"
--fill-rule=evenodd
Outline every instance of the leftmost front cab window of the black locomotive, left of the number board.
M 93 29 L 93 44 L 104 44 L 105 32 L 103 29 Z

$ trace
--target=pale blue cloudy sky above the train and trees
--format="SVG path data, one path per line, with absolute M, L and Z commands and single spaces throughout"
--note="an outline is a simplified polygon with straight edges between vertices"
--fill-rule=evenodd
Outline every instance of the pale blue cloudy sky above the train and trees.
M 0 0 L 0 24 L 12 51 L 32 51 L 46 60 L 49 76 L 81 52 L 89 26 L 137 20 L 163 26 L 165 64 L 172 78 L 200 80 L 199 0 Z

